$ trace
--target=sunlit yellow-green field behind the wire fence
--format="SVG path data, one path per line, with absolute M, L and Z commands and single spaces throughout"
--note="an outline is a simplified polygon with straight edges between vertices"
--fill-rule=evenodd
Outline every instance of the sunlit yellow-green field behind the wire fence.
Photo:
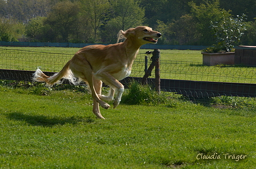
M 1 52 L 0 68 L 34 71 L 37 67 L 41 67 L 42 71 L 50 72 L 60 71 L 63 65 L 79 50 L 79 48 L 57 47 L 0 47 L 0 49 L 3 48 L 13 49 L 13 51 Z M 130 76 L 143 77 L 145 69 L 144 53 L 146 51 L 148 50 L 139 50 L 139 55 L 134 62 Z M 242 67 L 241 65 L 209 67 L 202 65 L 201 51 L 161 50 L 162 79 L 256 83 L 255 76 L 256 68 L 254 67 Z M 154 78 L 154 73 L 151 77 Z

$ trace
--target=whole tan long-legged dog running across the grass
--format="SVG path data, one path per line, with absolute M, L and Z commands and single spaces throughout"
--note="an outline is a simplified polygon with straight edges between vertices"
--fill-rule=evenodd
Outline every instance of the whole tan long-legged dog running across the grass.
M 73 84 L 85 81 L 90 86 L 93 101 L 93 113 L 98 118 L 104 118 L 99 111 L 99 104 L 104 109 L 110 107 L 102 100 L 111 101 L 114 93 L 114 108 L 121 101 L 123 85 L 119 80 L 124 79 L 131 73 L 131 66 L 139 51 L 139 48 L 146 43 L 157 43 L 161 34 L 146 26 L 130 28 L 126 31 L 119 31 L 119 39 L 126 38 L 124 42 L 104 45 L 92 45 L 83 47 L 71 60 L 62 68 L 59 73 L 49 77 L 40 69 L 33 74 L 34 81 L 45 82 L 46 86 L 53 86 L 60 83 L 60 80 L 68 79 Z M 78 80 L 75 78 L 77 77 Z M 110 85 L 108 96 L 101 94 L 102 81 Z

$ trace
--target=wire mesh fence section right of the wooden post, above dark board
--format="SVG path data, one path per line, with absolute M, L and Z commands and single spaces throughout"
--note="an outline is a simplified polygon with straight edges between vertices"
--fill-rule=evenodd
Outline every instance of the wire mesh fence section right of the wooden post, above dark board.
M 207 66 L 189 61 L 161 60 L 161 78 L 176 80 L 256 83 L 256 68 L 236 65 Z

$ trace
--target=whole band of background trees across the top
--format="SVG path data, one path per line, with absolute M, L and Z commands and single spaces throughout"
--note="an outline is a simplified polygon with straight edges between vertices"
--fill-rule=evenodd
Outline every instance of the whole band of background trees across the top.
M 0 17 L 26 26 L 3 39 L 33 42 L 115 43 L 119 30 L 147 25 L 162 32 L 159 44 L 211 45 L 211 22 L 246 14 L 240 42 L 255 45 L 255 10 L 255 0 L 0 0 Z

